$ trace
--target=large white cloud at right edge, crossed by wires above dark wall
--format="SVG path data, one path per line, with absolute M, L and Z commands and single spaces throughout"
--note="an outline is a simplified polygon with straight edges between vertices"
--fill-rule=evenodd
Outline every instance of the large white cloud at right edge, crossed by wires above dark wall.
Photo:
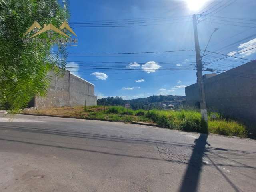
M 252 39 L 246 43 L 240 44 L 238 46 L 238 51 L 229 52 L 228 55 L 232 56 L 234 54 L 237 54 L 238 52 L 244 51 L 244 52 L 240 53 L 240 55 L 242 57 L 250 56 L 251 54 L 256 53 L 256 48 L 254 48 L 254 47 L 256 47 L 256 38 Z M 252 48 L 254 48 L 254 49 L 252 49 Z M 251 49 L 251 50 L 248 50 L 248 49 Z M 245 50 L 248 50 L 248 51 L 245 51 Z

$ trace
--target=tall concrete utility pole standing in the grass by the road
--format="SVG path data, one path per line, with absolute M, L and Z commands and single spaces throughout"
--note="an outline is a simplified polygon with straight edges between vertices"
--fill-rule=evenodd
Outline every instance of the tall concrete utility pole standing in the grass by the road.
M 193 25 L 194 25 L 194 38 L 195 38 L 195 46 L 196 46 L 196 76 L 197 83 L 199 87 L 199 99 L 200 99 L 200 110 L 201 116 L 207 122 L 207 109 L 206 109 L 206 100 L 205 100 L 205 92 L 204 92 L 204 80 L 202 74 L 202 60 L 200 56 L 200 48 L 199 48 L 199 40 L 198 40 L 198 31 L 197 31 L 197 20 L 196 15 L 193 15 Z

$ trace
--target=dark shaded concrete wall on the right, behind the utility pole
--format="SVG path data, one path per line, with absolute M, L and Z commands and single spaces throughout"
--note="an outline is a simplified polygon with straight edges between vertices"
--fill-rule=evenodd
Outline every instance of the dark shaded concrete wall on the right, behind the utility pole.
M 204 79 L 207 108 L 256 124 L 256 60 Z M 199 101 L 197 84 L 185 88 L 186 104 Z

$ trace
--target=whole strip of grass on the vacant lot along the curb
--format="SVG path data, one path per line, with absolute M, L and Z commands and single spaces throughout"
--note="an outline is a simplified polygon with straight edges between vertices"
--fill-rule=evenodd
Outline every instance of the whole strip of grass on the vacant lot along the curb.
M 82 118 L 96 118 L 106 120 L 122 120 L 125 122 L 140 121 L 154 122 L 158 125 L 188 132 L 210 132 L 227 136 L 246 137 L 246 126 L 235 120 L 225 119 L 218 113 L 209 113 L 208 129 L 201 120 L 197 110 L 132 110 L 122 106 L 76 106 L 57 107 L 39 110 L 26 110 L 28 113 L 65 115 Z

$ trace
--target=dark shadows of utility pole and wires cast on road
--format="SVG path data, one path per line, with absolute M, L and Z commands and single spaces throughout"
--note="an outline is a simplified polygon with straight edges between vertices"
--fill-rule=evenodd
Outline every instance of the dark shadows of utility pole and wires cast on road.
M 240 151 L 240 150 L 231 150 L 231 149 L 222 149 L 222 148 L 214 148 L 210 147 L 210 144 L 207 143 L 208 134 L 200 134 L 199 138 L 194 140 L 195 145 L 191 144 L 185 144 L 185 143 L 179 143 L 179 142 L 169 142 L 169 141 L 163 141 L 163 140 L 155 140 L 155 139 L 146 139 L 146 138 L 129 138 L 129 137 L 122 137 L 122 136 L 110 136 L 110 135 L 104 135 L 104 134 L 93 134 L 93 133 L 86 133 L 86 132 L 75 132 L 75 131 L 62 131 L 62 130 L 54 130 L 54 129 L 40 129 L 40 128 L 25 128 L 21 126 L 7 126 L 7 125 L 0 125 L 0 130 L 12 130 L 12 131 L 18 131 L 18 132 L 28 132 L 28 133 L 39 133 L 39 134 L 50 134 L 55 136 L 66 136 L 66 137 L 75 137 L 75 138 L 84 138 L 84 139 L 92 139 L 92 140 L 104 140 L 104 141 L 110 141 L 110 142 L 122 142 L 122 143 L 149 143 L 149 144 L 165 144 L 167 146 L 174 146 L 176 148 L 183 148 L 184 150 L 192 149 L 192 155 L 190 156 L 190 159 L 188 162 L 182 162 L 180 160 L 168 160 L 170 162 L 175 163 L 182 163 L 187 164 L 186 172 L 182 178 L 182 184 L 180 186 L 180 192 L 196 192 L 198 189 L 198 184 L 200 181 L 200 174 L 202 171 L 202 167 L 206 164 L 203 162 L 203 157 L 207 156 L 211 162 L 212 165 L 220 172 L 222 177 L 227 181 L 228 184 L 233 188 L 234 191 L 239 192 L 240 189 L 232 183 L 230 178 L 226 176 L 218 166 L 232 166 L 232 167 L 243 167 L 247 169 L 255 170 L 256 168 L 253 166 L 248 166 L 244 163 L 238 162 L 236 160 L 233 160 L 232 157 L 227 157 L 227 154 L 239 155 L 241 158 L 245 158 L 246 156 L 249 158 L 254 158 L 256 155 L 255 152 L 250 151 Z M 10 136 L 8 136 L 10 137 Z M 22 139 L 22 140 L 20 140 Z M 107 154 L 107 155 L 114 155 L 114 156 L 124 156 L 124 157 L 131 157 L 131 158 L 140 158 L 140 159 L 150 159 L 150 160 L 161 160 L 166 161 L 162 158 L 154 158 L 154 157 L 147 157 L 147 156 L 136 156 L 136 155 L 130 155 L 130 154 L 120 154 L 116 152 L 106 152 L 105 150 L 89 150 L 85 148 L 76 148 L 76 147 L 67 147 L 67 146 L 58 146 L 54 144 L 42 144 L 37 142 L 28 142 L 24 141 L 24 138 L 16 138 L 14 139 L 6 139 L 6 138 L 0 138 L 0 140 L 8 141 L 8 142 L 18 142 L 18 143 L 24 143 L 24 144 L 34 144 L 34 145 L 40 145 L 40 146 L 48 146 L 48 147 L 55 147 L 55 148 L 64 148 L 64 149 L 70 149 L 70 150 L 80 150 L 84 152 L 93 152 L 93 153 L 100 153 L 100 154 Z M 27 139 L 33 139 L 33 138 L 27 138 Z M 48 140 L 44 142 L 49 142 Z M 68 144 L 68 143 L 66 143 Z M 206 148 L 206 145 L 208 147 Z M 218 153 L 224 153 L 225 156 L 222 156 Z M 207 155 L 207 154 L 209 155 Z M 219 164 L 214 161 L 216 161 L 216 158 L 218 159 L 225 159 L 228 161 L 231 161 L 232 164 Z M 171 174 L 171 173 L 166 173 Z M 247 175 L 246 175 L 247 176 Z

